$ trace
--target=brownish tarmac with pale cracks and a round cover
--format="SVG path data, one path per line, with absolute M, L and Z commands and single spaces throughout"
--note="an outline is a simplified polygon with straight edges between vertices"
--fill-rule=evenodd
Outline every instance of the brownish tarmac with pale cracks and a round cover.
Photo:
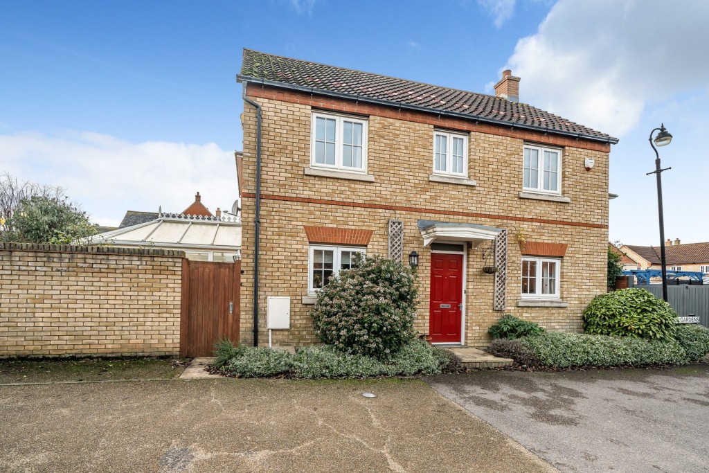
M 206 379 L 0 386 L 0 471 L 555 470 L 418 380 Z

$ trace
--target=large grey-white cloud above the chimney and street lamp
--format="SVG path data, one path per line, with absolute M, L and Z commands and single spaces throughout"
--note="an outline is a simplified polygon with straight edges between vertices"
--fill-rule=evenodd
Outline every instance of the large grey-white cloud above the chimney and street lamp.
M 623 136 L 648 104 L 706 89 L 709 2 L 560 0 L 503 69 L 520 100 Z

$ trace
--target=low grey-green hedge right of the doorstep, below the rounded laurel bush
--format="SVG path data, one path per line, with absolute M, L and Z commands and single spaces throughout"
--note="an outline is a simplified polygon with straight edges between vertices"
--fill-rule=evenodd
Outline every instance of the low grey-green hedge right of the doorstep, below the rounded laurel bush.
M 687 353 L 676 341 L 581 333 L 543 333 L 518 340 L 493 340 L 488 351 L 520 365 L 545 367 L 679 365 Z

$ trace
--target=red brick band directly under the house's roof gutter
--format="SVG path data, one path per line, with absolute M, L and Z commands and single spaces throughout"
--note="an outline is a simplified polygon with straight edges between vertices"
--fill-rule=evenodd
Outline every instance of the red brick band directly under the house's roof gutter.
M 303 104 L 327 110 L 343 111 L 349 113 L 359 113 L 362 115 L 381 116 L 385 118 L 396 118 L 398 120 L 413 121 L 415 123 L 426 123 L 428 125 L 440 126 L 442 128 L 452 128 L 454 130 L 476 131 L 489 135 L 507 136 L 509 138 L 519 138 L 520 140 L 536 141 L 547 145 L 572 146 L 584 150 L 610 152 L 609 143 L 598 143 L 596 141 L 585 140 L 584 138 L 569 138 L 563 135 L 554 135 L 554 130 L 549 133 L 541 131 L 523 130 L 515 128 L 513 123 L 509 126 L 491 125 L 475 121 L 474 118 L 464 120 L 445 116 L 436 116 L 434 113 L 425 113 L 412 110 L 401 110 L 394 107 L 367 104 L 366 102 L 347 101 L 345 99 L 330 99 L 329 97 L 314 94 L 303 94 L 301 92 L 276 89 L 274 87 L 257 86 L 249 84 L 247 96 L 252 99 L 272 99 L 290 102 L 291 104 Z

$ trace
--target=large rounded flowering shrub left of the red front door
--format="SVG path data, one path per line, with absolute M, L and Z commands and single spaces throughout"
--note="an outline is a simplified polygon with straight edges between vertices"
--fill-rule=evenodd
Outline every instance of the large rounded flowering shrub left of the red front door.
M 415 338 L 415 272 L 401 262 L 354 255 L 318 293 L 311 311 L 316 335 L 353 355 L 390 357 Z

